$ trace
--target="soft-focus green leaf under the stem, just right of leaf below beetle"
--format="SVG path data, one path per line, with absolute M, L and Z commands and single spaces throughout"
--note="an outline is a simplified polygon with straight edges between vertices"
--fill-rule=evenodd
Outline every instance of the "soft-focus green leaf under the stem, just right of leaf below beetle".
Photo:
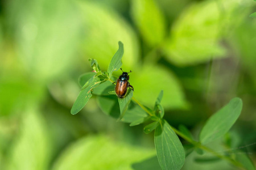
M 128 106 L 125 116 L 121 119 L 123 122 L 132 123 L 130 126 L 135 126 L 147 120 L 148 114 L 139 107 L 138 104 L 131 102 Z

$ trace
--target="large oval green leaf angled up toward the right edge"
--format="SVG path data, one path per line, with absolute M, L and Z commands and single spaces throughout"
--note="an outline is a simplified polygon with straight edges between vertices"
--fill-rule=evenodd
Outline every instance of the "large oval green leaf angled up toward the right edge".
M 207 120 L 200 133 L 200 142 L 206 144 L 226 134 L 240 116 L 241 111 L 242 100 L 238 97 L 230 100 L 229 104 Z

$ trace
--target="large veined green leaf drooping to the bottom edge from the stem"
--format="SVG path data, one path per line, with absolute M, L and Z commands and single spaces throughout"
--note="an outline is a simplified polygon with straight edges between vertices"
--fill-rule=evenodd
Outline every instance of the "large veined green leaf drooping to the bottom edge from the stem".
M 165 120 L 155 130 L 155 148 L 162 169 L 181 169 L 185 162 L 184 148 Z

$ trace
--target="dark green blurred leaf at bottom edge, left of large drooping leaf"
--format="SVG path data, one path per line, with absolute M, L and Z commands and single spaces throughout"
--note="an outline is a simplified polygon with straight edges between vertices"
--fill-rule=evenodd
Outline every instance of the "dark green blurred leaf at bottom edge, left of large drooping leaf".
M 162 168 L 159 165 L 157 156 L 143 160 L 142 162 L 139 163 L 134 163 L 133 165 L 131 165 L 131 167 L 133 167 L 134 170 L 162 170 Z

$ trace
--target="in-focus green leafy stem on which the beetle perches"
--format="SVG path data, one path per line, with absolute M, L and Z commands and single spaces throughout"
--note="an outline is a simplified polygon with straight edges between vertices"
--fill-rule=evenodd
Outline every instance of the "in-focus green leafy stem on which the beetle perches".
M 115 78 L 109 78 L 109 76 L 112 75 L 113 71 L 116 71 L 122 66 L 122 55 L 123 44 L 119 42 L 119 49 L 114 54 L 109 64 L 108 74 L 105 72 L 102 73 L 96 59 L 90 60 L 91 67 L 96 73 L 86 73 L 80 76 L 79 84 L 82 86 L 82 90 L 73 104 L 71 113 L 76 114 L 79 112 L 92 95 L 97 95 L 98 104 L 102 111 L 114 118 L 118 118 L 117 120 L 119 121 L 130 123 L 130 126 L 151 121 L 150 124 L 144 126 L 144 133 L 148 134 L 155 130 L 156 154 L 162 169 L 180 169 L 185 162 L 185 151 L 176 133 L 192 143 L 192 146 L 186 151 L 187 155 L 194 149 L 199 155 L 203 155 L 204 150 L 213 152 L 213 154 L 216 155 L 212 158 L 196 158 L 196 162 L 209 162 L 222 158 L 223 156 L 218 155 L 203 145 L 222 137 L 229 131 L 240 116 L 242 100 L 239 98 L 232 99 L 229 104 L 225 105 L 225 107 L 210 117 L 201 130 L 201 143 L 198 143 L 185 126 L 180 126 L 180 131 L 178 131 L 172 128 L 168 122 L 163 119 L 164 107 L 161 104 L 162 99 L 164 99 L 163 90 L 160 91 L 153 110 L 139 103 L 139 101 L 133 97 L 133 90 L 128 89 L 126 95 L 122 98 L 117 98 L 117 96 L 112 95 L 114 94 L 114 85 L 112 82 L 114 82 L 113 79 Z M 148 72 L 150 72 L 150 70 L 148 70 Z M 89 78 L 90 76 L 92 77 Z M 92 92 L 94 90 L 96 92 Z M 245 159 L 241 156 L 237 158 Z M 230 162 L 235 165 L 240 165 L 238 163 L 240 160 L 238 159 L 226 159 L 230 160 Z M 244 161 L 244 163 L 243 167 L 250 167 L 249 161 Z

